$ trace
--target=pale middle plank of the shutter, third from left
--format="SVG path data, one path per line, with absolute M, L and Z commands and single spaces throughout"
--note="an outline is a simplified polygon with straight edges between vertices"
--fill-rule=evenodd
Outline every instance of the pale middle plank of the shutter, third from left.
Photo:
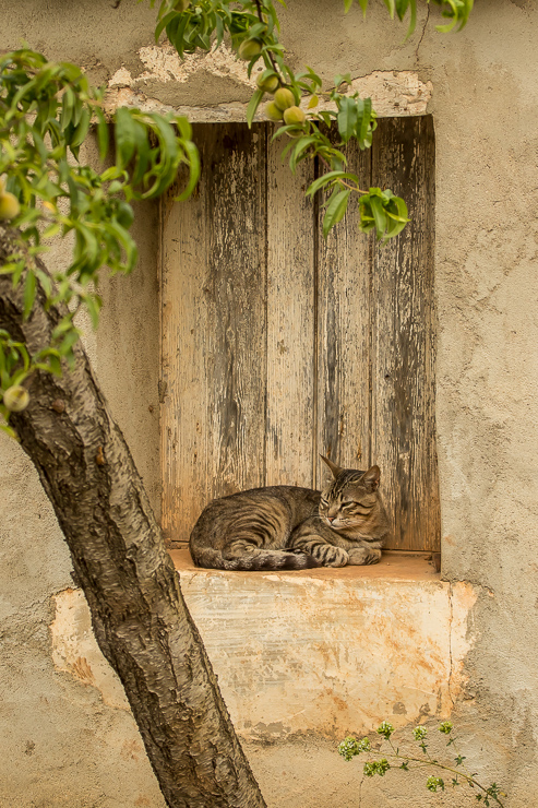
M 296 175 L 267 150 L 266 485 L 310 487 L 314 439 L 314 207 L 304 191 L 312 161 Z

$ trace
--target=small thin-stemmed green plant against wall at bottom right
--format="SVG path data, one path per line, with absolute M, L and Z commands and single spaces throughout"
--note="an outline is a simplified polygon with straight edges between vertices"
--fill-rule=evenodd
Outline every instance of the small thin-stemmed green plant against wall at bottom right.
M 399 769 L 404 772 L 409 772 L 415 769 L 425 769 L 427 772 L 435 772 L 434 774 L 428 774 L 426 779 L 426 788 L 429 792 L 438 793 L 444 792 L 445 788 L 456 788 L 458 786 L 468 786 L 474 789 L 474 800 L 490 808 L 490 806 L 498 805 L 504 808 L 501 797 L 507 795 L 501 791 L 497 783 L 491 783 L 489 786 L 485 786 L 478 782 L 477 775 L 474 772 L 469 772 L 465 765 L 466 758 L 457 749 L 457 738 L 454 737 L 453 725 L 450 721 L 444 721 L 439 725 L 439 732 L 447 736 L 446 747 L 451 748 L 451 751 L 455 753 L 452 760 L 440 761 L 437 758 L 432 758 L 428 751 L 428 728 L 426 726 L 417 726 L 413 729 L 413 738 L 416 741 L 418 748 L 421 751 L 420 756 L 407 754 L 400 751 L 399 747 L 394 746 L 392 741 L 392 735 L 394 727 L 387 721 L 384 721 L 378 727 L 378 735 L 381 735 L 388 742 L 391 749 L 390 752 L 376 752 L 374 760 L 369 760 L 363 765 L 363 773 L 367 777 L 374 777 L 379 775 L 383 777 L 390 769 Z M 362 754 L 363 752 L 371 752 L 372 747 L 368 737 L 357 740 L 354 737 L 347 737 L 338 746 L 338 753 L 345 760 L 352 760 L 356 756 Z M 392 762 L 388 762 L 387 758 Z M 443 774 L 443 776 L 438 776 Z

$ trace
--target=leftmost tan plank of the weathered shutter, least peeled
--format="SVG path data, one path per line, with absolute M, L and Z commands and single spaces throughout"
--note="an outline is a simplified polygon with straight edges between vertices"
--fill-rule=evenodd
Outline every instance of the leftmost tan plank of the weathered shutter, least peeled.
M 195 127 L 195 136 L 204 129 Z M 162 202 L 162 381 L 160 440 L 163 531 L 172 546 L 189 538 L 208 495 L 207 459 L 207 171 L 193 197 Z

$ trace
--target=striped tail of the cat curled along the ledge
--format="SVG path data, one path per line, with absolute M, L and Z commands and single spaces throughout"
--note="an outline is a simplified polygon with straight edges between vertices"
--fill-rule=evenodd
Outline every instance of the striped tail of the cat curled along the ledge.
M 286 550 L 253 549 L 235 558 L 224 558 L 220 550 L 212 547 L 191 547 L 192 560 L 196 567 L 212 570 L 238 570 L 251 572 L 256 570 L 308 570 L 319 567 L 318 561 L 307 552 L 288 552 Z

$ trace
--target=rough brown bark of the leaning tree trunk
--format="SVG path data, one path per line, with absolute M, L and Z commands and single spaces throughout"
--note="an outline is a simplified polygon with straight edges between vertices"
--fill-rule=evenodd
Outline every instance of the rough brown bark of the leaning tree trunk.
M 0 265 L 15 239 L 0 227 Z M 44 301 L 39 289 L 23 321 L 23 283 L 0 275 L 0 328 L 31 354 L 60 319 Z M 52 502 L 99 647 L 170 808 L 262 808 L 129 448 L 81 344 L 75 356 L 60 379 L 33 375 L 29 405 L 10 424 Z

